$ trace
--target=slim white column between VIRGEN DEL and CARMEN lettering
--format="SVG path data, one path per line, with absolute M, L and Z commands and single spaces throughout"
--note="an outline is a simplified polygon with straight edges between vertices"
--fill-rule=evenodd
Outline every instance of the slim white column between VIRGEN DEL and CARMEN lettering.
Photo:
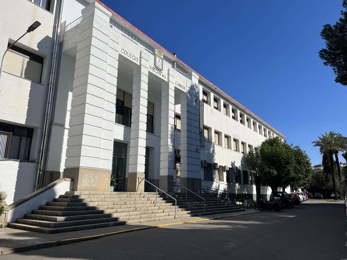
M 161 90 L 160 176 L 159 187 L 174 191 L 175 72 L 168 69 L 168 84 Z

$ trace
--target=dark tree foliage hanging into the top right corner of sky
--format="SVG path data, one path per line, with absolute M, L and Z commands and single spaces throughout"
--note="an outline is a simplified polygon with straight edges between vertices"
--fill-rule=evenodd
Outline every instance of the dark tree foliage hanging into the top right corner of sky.
M 342 7 L 347 9 L 347 0 L 342 1 Z M 336 24 L 323 25 L 321 37 L 325 40 L 325 48 L 319 51 L 319 57 L 325 66 L 332 67 L 335 81 L 347 86 L 347 10 L 341 11 Z

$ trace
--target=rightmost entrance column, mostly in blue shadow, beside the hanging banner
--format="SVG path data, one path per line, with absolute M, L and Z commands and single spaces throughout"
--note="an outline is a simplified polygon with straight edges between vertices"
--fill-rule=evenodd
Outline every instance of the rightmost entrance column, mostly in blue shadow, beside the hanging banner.
M 199 138 L 199 85 L 192 72 L 187 80 L 187 93 L 181 94 L 181 184 L 194 192 L 201 192 Z M 212 133 L 213 134 L 213 133 Z M 185 189 L 181 187 L 181 192 Z

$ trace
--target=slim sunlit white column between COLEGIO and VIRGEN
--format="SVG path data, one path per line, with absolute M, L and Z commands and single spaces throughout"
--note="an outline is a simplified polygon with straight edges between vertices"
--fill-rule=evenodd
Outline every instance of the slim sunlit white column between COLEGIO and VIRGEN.
M 129 173 L 126 178 L 126 189 L 131 192 L 144 191 L 144 181 L 138 177 L 145 177 L 148 61 L 149 54 L 141 51 L 140 65 L 134 68 Z

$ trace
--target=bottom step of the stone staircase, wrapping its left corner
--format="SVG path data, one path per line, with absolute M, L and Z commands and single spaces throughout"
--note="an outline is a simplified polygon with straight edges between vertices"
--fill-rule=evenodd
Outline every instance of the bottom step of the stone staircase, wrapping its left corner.
M 8 226 L 12 228 L 18 228 L 18 229 L 23 229 L 28 231 L 52 234 L 52 233 L 59 233 L 59 232 L 76 231 L 76 230 L 98 228 L 98 227 L 117 226 L 117 225 L 124 225 L 124 224 L 126 224 L 125 221 L 114 221 L 114 222 L 102 222 L 102 223 L 96 223 L 96 224 L 58 227 L 58 228 L 32 226 L 32 225 L 27 225 L 22 223 L 9 223 Z

